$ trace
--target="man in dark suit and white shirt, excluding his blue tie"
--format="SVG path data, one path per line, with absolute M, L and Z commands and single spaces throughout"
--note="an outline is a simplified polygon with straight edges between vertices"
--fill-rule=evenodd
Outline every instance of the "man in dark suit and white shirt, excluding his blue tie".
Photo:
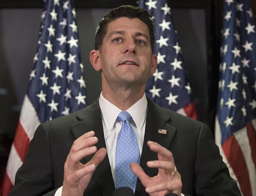
M 130 164 L 135 195 L 241 195 L 209 127 L 146 98 L 157 66 L 153 47 L 153 20 L 144 9 L 121 6 L 101 20 L 90 53 L 101 71 L 100 98 L 37 128 L 10 195 L 111 196 L 122 111 L 132 116 L 140 154 L 140 164 Z

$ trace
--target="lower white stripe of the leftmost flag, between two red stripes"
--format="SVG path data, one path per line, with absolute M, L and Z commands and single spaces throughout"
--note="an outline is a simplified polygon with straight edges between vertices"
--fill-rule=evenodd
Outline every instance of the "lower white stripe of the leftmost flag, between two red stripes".
M 9 154 L 9 158 L 6 166 L 6 173 L 12 185 L 14 185 L 16 172 L 18 171 L 22 163 L 23 162 L 21 161 L 20 156 L 15 149 L 14 143 L 12 143 L 12 147 L 10 150 L 10 154 Z

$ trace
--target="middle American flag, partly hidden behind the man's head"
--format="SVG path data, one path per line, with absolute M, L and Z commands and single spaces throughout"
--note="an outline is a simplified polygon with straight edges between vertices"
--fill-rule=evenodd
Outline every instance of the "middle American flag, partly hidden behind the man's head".
M 171 8 L 166 0 L 140 0 L 138 7 L 148 10 L 155 22 L 157 69 L 146 83 L 146 95 L 159 106 L 197 120 Z

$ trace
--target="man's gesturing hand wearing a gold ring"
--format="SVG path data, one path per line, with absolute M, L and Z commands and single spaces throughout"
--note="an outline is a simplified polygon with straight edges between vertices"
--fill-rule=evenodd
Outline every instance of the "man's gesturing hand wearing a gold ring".
M 137 163 L 130 164 L 132 172 L 140 178 L 151 196 L 164 196 L 167 193 L 181 195 L 181 176 L 175 167 L 172 153 L 156 142 L 148 141 L 148 146 L 157 153 L 158 160 L 148 161 L 147 166 L 158 168 L 158 174 L 149 177 Z

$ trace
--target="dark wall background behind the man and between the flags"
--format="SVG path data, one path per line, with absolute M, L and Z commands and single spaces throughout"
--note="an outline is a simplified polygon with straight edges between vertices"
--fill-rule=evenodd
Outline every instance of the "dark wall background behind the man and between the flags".
M 188 70 L 199 120 L 214 131 L 224 0 L 169 0 Z M 113 7 L 134 0 L 74 0 L 89 104 L 101 92 L 100 72 L 89 61 L 100 19 Z M 256 13 L 256 1 L 251 0 Z M 36 53 L 43 1 L 0 2 L 0 184 Z M 254 19 L 255 14 L 254 14 Z

